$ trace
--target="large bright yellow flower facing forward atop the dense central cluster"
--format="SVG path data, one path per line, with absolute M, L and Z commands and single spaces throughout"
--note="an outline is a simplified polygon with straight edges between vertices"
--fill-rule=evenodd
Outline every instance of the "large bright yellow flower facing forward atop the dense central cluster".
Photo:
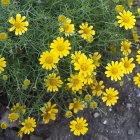
M 91 75 L 93 70 L 95 69 L 95 66 L 92 63 L 93 61 L 86 56 L 81 56 L 78 59 L 78 63 L 74 63 L 75 70 L 80 70 L 79 74 L 84 75 L 85 77 L 88 75 Z

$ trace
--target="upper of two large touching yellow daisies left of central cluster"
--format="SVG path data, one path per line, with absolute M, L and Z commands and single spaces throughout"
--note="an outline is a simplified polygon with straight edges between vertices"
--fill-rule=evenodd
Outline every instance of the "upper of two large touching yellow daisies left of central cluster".
M 60 58 L 67 56 L 71 50 L 70 42 L 68 40 L 64 40 L 63 37 L 57 37 L 56 40 L 53 40 L 50 48 L 55 54 L 58 54 Z

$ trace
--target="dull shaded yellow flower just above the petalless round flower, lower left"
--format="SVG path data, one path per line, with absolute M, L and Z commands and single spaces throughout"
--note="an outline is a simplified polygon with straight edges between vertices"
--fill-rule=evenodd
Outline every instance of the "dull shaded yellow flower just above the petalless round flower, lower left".
M 20 103 L 16 103 L 11 108 L 12 112 L 24 114 L 26 112 L 26 105 L 21 105 Z

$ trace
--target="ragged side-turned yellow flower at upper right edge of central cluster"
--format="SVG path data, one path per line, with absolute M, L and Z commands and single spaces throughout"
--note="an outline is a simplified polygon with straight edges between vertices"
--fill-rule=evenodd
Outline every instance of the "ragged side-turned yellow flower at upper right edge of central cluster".
M 92 59 L 93 64 L 95 65 L 95 67 L 99 67 L 100 66 L 100 62 L 99 60 L 101 59 L 101 54 L 99 54 L 98 52 L 95 52 L 93 55 L 89 55 L 89 57 Z

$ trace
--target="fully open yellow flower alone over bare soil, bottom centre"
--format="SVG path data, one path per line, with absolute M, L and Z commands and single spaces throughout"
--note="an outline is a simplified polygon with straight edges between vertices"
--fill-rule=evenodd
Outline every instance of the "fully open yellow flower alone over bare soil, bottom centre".
M 73 132 L 74 135 L 80 136 L 81 134 L 84 135 L 88 131 L 88 123 L 86 119 L 83 117 L 77 117 L 76 120 L 72 120 L 70 122 L 70 131 Z

